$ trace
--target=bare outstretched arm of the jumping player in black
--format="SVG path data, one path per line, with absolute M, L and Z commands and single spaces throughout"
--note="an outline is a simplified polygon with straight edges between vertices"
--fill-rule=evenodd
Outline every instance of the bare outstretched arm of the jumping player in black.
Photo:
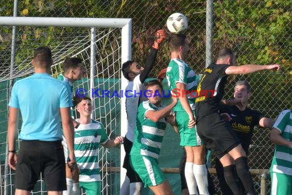
M 281 66 L 279 64 L 273 65 L 255 65 L 248 64 L 243 66 L 230 66 L 226 68 L 226 74 L 249 74 L 261 70 L 281 70 Z

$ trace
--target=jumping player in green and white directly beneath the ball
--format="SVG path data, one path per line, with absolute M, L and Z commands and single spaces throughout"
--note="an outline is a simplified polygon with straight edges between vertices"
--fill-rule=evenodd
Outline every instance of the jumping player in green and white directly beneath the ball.
M 171 62 L 166 71 L 166 79 L 170 90 L 177 90 L 178 103 L 174 107 L 176 122 L 179 128 L 180 145 L 186 151 L 185 179 L 190 194 L 198 194 L 197 186 L 201 194 L 208 193 L 207 169 L 205 166 L 205 147 L 196 132 L 195 122 L 195 95 L 182 94 L 183 90 L 196 90 L 196 74 L 183 61 L 189 51 L 189 43 L 184 34 L 174 34 L 171 37 L 169 47 L 171 50 Z

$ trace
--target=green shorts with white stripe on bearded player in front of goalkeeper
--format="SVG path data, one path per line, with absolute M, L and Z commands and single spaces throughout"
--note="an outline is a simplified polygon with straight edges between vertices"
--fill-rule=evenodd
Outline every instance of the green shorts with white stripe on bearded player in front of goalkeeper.
M 130 155 L 130 164 L 141 178 L 145 187 L 157 186 L 165 181 L 157 159 L 142 155 Z

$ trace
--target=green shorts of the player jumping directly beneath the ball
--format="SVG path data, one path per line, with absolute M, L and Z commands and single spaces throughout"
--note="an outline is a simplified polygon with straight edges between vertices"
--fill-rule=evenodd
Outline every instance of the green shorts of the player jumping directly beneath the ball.
M 193 110 L 195 115 L 195 110 Z M 176 111 L 176 123 L 180 135 L 180 144 L 181 146 L 200 146 L 203 145 L 199 135 L 197 134 L 196 126 L 194 128 L 189 128 L 189 114 L 182 111 Z

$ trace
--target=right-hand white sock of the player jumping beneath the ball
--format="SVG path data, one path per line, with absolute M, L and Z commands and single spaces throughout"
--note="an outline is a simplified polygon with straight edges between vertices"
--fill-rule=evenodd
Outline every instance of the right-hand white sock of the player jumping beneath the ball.
M 195 165 L 194 174 L 198 184 L 200 194 L 209 195 L 208 178 L 206 165 Z

